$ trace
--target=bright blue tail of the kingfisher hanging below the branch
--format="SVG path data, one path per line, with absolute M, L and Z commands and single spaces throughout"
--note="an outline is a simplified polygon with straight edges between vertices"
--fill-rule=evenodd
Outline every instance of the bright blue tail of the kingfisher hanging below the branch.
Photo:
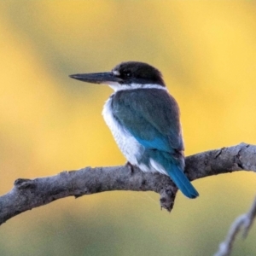
M 178 166 L 172 165 L 169 170 L 167 170 L 169 176 L 172 178 L 172 181 L 177 185 L 177 188 L 180 189 L 184 195 L 189 198 L 195 198 L 199 195 L 192 183 L 190 183 L 188 177 L 182 172 L 182 170 Z

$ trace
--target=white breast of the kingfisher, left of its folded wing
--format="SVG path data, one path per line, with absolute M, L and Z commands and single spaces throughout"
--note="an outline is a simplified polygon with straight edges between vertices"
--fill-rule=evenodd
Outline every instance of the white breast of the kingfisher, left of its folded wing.
M 144 148 L 141 144 L 137 143 L 137 140 L 131 136 L 130 132 L 119 125 L 119 122 L 113 117 L 111 103 L 112 97 L 110 97 L 104 105 L 102 111 L 103 118 L 112 132 L 115 142 L 125 155 L 126 160 L 128 160 L 131 165 L 137 166 L 137 159 L 143 154 Z

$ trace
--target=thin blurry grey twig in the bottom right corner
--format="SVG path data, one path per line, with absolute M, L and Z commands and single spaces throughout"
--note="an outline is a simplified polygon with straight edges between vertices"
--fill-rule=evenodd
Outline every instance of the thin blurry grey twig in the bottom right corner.
M 235 238 L 241 229 L 243 231 L 243 237 L 245 238 L 250 230 L 253 220 L 256 216 L 256 197 L 253 201 L 251 209 L 241 216 L 237 217 L 234 223 L 230 227 L 230 231 L 226 239 L 220 243 L 218 252 L 214 256 L 229 256 L 235 241 Z

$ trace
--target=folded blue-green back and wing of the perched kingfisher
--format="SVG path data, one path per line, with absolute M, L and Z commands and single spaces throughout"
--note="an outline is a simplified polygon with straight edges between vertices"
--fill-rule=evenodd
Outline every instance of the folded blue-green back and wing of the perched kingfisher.
M 145 148 L 183 150 L 177 102 L 166 90 L 121 90 L 113 96 L 112 108 L 114 117 Z

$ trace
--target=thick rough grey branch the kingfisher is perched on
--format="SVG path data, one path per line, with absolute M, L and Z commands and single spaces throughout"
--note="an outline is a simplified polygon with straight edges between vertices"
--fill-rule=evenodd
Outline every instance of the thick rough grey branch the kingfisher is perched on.
M 225 172 L 256 171 L 256 146 L 241 143 L 186 158 L 189 180 Z M 0 197 L 0 224 L 15 215 L 57 199 L 110 190 L 154 191 L 160 194 L 160 207 L 171 212 L 177 187 L 166 175 L 142 172 L 129 166 L 86 167 L 51 177 L 19 178 L 9 193 Z

